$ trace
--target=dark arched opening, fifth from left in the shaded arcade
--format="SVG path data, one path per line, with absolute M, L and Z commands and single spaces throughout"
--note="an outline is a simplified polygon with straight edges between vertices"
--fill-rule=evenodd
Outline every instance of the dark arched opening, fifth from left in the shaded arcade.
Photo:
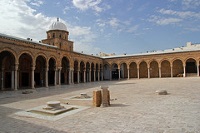
M 61 84 L 69 84 L 69 60 L 62 58 Z

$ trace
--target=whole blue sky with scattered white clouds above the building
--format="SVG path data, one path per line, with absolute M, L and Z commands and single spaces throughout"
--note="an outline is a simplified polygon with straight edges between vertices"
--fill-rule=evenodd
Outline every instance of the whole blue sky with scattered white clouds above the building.
M 134 54 L 200 42 L 199 0 L 1 0 L 0 32 L 42 40 L 59 17 L 75 51 Z

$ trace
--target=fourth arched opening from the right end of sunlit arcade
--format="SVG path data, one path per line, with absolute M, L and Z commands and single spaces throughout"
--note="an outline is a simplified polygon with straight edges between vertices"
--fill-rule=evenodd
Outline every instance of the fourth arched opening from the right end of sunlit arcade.
M 159 77 L 158 62 L 152 61 L 150 63 L 150 78 L 158 78 L 158 77 Z

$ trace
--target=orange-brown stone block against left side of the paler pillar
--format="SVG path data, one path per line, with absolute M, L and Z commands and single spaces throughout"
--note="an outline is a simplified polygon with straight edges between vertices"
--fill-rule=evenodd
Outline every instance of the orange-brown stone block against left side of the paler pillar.
M 93 106 L 94 107 L 100 107 L 101 106 L 101 90 L 95 90 L 93 91 Z

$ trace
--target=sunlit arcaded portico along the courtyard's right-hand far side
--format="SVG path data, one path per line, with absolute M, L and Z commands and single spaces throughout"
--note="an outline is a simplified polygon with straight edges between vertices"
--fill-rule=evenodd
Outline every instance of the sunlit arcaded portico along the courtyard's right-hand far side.
M 199 51 L 106 57 L 104 79 L 199 76 Z

